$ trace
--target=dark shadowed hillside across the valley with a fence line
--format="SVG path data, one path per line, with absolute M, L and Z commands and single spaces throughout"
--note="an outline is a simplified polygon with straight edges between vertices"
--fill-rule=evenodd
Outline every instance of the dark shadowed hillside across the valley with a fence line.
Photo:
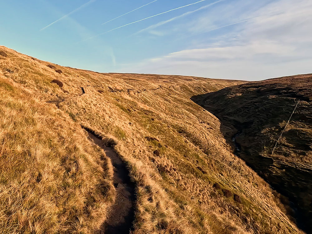
M 192 100 L 220 119 L 236 154 L 285 196 L 300 227 L 311 230 L 312 75 L 250 82 Z

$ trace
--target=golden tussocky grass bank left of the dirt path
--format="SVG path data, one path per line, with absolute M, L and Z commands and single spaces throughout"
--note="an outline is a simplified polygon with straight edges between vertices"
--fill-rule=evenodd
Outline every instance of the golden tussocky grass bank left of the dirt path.
M 110 162 L 63 111 L 0 76 L 0 232 L 90 233 L 114 200 Z

